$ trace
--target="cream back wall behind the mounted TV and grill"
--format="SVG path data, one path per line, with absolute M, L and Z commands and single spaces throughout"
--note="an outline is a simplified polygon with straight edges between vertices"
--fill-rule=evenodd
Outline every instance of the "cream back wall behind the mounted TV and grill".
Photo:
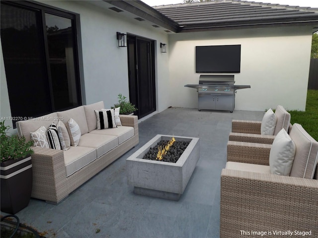
M 195 47 L 241 45 L 235 109 L 264 111 L 282 105 L 305 111 L 310 65 L 311 28 L 285 27 L 181 33 L 169 37 L 169 77 L 172 105 L 197 108 L 195 89 L 202 73 L 195 72 Z M 204 73 L 209 74 L 209 73 Z M 222 74 L 222 73 L 211 73 Z M 176 93 L 177 92 L 177 93 Z

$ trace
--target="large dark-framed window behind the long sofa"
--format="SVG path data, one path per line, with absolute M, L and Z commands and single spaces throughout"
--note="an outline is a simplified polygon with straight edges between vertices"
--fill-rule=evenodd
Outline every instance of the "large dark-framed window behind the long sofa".
M 1 44 L 13 118 L 81 105 L 75 19 L 42 5 L 1 1 Z

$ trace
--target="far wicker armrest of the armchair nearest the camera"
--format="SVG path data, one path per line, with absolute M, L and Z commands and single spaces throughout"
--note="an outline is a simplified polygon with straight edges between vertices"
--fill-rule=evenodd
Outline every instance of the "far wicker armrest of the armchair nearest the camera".
M 269 153 L 271 145 L 228 141 L 227 161 L 269 165 Z

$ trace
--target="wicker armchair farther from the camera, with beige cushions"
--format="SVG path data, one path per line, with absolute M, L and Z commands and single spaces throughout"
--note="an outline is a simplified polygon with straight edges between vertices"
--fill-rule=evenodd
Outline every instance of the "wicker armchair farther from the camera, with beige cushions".
M 232 120 L 232 132 L 229 135 L 231 141 L 272 144 L 275 135 L 284 128 L 289 132 L 290 114 L 280 105 L 275 110 L 277 117 L 274 135 L 261 135 L 261 121 Z

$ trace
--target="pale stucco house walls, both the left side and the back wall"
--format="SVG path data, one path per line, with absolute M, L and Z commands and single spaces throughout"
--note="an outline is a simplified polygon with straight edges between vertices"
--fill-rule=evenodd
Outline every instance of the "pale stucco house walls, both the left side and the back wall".
M 236 110 L 264 111 L 282 105 L 305 110 L 311 51 L 311 27 L 285 27 L 195 33 L 163 32 L 89 1 L 42 1 L 80 14 L 86 104 L 104 101 L 110 108 L 117 94 L 129 96 L 127 48 L 117 46 L 116 32 L 150 38 L 156 44 L 157 111 L 168 108 L 197 108 L 195 46 L 241 45 L 241 70 L 236 84 L 251 85 L 238 90 Z M 160 53 L 160 42 L 168 43 Z M 218 73 L 219 74 L 219 73 Z M 6 78 L 0 50 L 1 117 L 10 117 Z

